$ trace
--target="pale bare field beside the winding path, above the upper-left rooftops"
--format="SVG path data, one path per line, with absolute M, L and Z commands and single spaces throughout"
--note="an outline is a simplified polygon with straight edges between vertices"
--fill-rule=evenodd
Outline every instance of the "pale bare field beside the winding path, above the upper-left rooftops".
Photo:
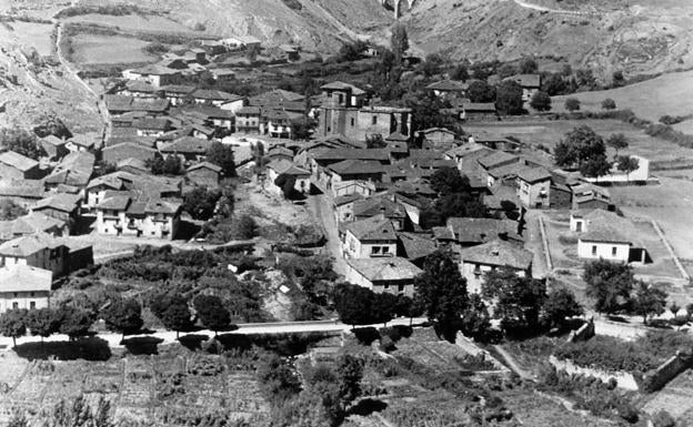
M 129 37 L 78 34 L 72 38 L 72 60 L 83 65 L 153 62 L 142 49 L 149 42 Z

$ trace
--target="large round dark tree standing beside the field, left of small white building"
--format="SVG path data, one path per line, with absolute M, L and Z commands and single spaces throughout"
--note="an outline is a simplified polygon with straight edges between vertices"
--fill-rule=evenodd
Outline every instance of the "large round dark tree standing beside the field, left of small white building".
M 581 125 L 565 134 L 554 149 L 554 160 L 561 167 L 581 167 L 592 159 L 605 157 L 604 140 L 592 128 Z

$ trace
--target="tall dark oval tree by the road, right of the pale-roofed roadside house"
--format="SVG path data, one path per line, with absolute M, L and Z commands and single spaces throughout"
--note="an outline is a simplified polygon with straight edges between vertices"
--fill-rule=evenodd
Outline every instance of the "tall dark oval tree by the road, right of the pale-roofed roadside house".
M 426 316 L 436 323 L 445 338 L 453 340 L 469 297 L 466 279 L 460 274 L 452 253 L 439 250 L 429 255 L 423 273 L 414 279 L 414 288 Z

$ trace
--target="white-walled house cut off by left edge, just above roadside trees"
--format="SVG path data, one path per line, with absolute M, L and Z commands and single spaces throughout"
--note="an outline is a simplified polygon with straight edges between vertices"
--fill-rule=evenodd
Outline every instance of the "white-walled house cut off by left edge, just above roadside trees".
M 0 268 L 0 313 L 49 307 L 52 283 L 48 270 L 29 265 Z

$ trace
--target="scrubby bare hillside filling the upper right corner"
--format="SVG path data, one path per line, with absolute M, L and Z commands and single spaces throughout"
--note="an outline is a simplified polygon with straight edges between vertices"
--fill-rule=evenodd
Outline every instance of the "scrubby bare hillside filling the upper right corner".
M 693 67 L 693 3 L 683 0 L 421 0 L 404 17 L 424 51 L 453 58 L 568 59 L 610 75 Z

